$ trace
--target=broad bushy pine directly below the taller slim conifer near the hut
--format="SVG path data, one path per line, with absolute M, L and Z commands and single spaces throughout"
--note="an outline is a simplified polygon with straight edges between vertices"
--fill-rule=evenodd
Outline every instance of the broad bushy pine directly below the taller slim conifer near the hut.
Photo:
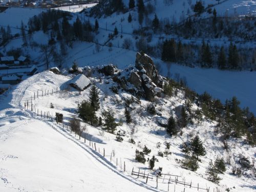
M 98 123 L 98 118 L 96 117 L 95 110 L 89 101 L 83 100 L 78 104 L 77 110 L 79 117 L 85 122 L 91 123 L 91 125 L 96 125 Z

